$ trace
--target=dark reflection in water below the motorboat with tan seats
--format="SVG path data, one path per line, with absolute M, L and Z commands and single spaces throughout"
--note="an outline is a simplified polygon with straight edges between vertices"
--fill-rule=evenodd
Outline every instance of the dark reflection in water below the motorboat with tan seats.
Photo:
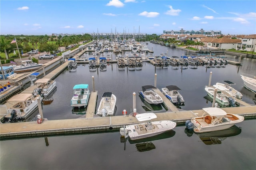
M 236 136 L 241 133 L 241 128 L 237 127 L 236 125 L 224 129 L 224 130 L 217 130 L 212 132 L 206 132 L 206 133 L 195 133 L 198 135 L 198 137 L 204 142 L 206 145 L 211 144 L 221 144 L 223 140 L 225 140 L 227 137 L 230 136 Z M 185 128 L 185 133 L 188 137 L 191 137 L 194 133 L 193 130 L 188 130 L 188 128 Z

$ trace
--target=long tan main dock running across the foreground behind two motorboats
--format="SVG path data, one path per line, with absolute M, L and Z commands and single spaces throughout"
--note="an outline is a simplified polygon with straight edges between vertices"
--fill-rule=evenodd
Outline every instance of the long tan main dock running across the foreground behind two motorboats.
M 227 113 L 238 114 L 246 119 L 255 119 L 256 106 L 227 107 L 222 108 Z M 204 113 L 202 109 L 193 111 L 178 111 L 156 113 L 154 121 L 171 120 L 177 125 L 184 125 L 185 121 L 192 117 L 199 117 Z M 131 115 L 96 117 L 84 119 L 64 119 L 48 121 L 44 119 L 41 124 L 33 122 L 0 124 L 0 139 L 11 140 L 18 138 L 36 138 L 57 135 L 72 135 L 83 133 L 119 131 L 124 125 L 138 123 Z

